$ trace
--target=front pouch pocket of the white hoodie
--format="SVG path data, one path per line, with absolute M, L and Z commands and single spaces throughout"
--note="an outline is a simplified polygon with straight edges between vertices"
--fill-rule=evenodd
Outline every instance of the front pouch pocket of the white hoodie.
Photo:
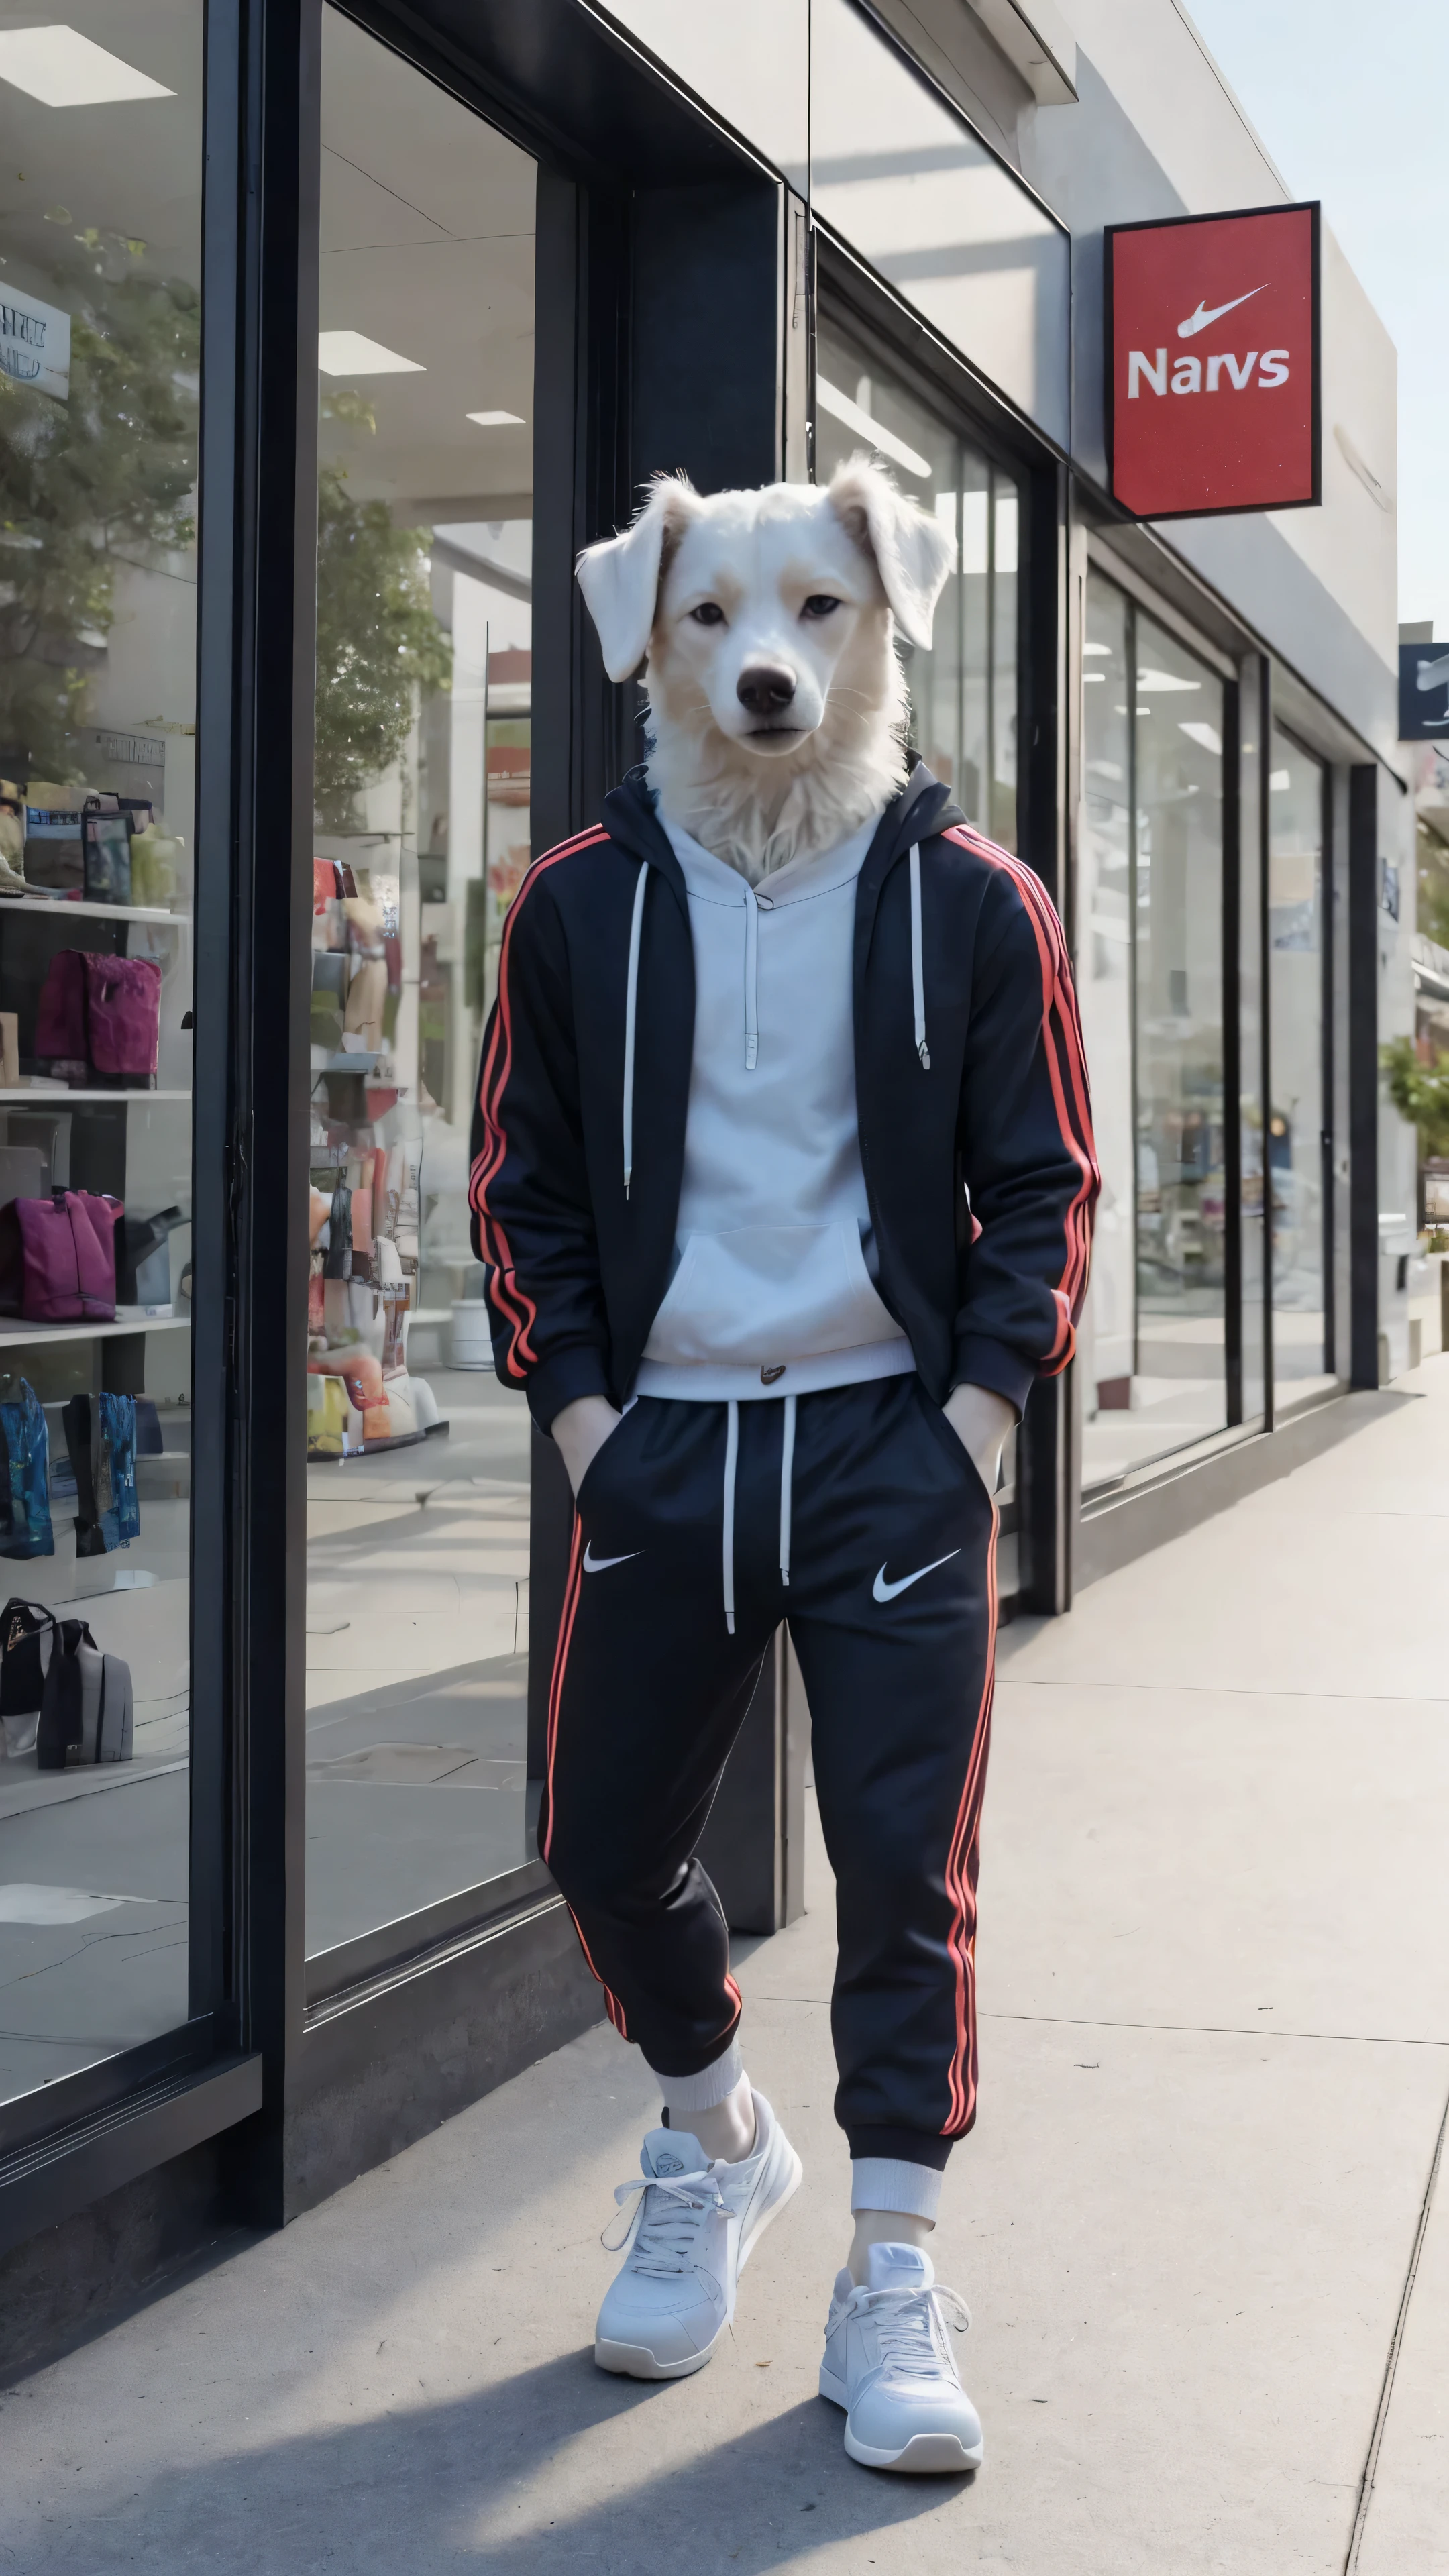
M 856 1224 L 735 1226 L 688 1236 L 645 1358 L 771 1368 L 895 1340 Z

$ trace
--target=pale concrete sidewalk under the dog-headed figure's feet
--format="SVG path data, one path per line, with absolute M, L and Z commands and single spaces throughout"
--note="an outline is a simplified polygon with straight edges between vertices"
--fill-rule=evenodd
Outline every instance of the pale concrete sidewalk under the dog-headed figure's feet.
M 706 2372 L 590 2360 L 657 2102 L 601 2027 L 10 2391 L 0 2566 L 1449 2568 L 1449 2179 L 1405 2311 L 1449 2092 L 1449 1360 L 1403 1394 L 1003 1638 L 982 2112 L 936 2239 L 972 2483 L 853 2468 L 815 2396 L 846 2241 L 815 1852 L 740 1976 L 807 2187 Z

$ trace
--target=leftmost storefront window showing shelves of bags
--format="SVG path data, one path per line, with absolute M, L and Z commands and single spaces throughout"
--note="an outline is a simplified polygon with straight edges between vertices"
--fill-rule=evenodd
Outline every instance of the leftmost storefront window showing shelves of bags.
M 0 5 L 0 118 L 13 2099 L 188 2012 L 201 0 Z

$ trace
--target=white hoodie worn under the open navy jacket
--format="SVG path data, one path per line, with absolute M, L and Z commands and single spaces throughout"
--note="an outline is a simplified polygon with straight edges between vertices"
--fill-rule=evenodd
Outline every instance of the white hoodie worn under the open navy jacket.
M 688 889 L 694 1061 L 676 1273 L 634 1388 L 727 1401 L 908 1376 L 856 1128 L 856 878 L 879 817 L 758 889 L 660 822 Z

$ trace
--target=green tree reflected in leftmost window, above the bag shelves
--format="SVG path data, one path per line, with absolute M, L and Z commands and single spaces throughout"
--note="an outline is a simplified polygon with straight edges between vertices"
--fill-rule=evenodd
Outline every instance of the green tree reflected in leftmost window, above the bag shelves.
M 28 775 L 83 778 L 116 562 L 193 538 L 201 307 L 144 247 L 88 229 L 52 265 L 70 402 L 0 376 L 0 755 Z

